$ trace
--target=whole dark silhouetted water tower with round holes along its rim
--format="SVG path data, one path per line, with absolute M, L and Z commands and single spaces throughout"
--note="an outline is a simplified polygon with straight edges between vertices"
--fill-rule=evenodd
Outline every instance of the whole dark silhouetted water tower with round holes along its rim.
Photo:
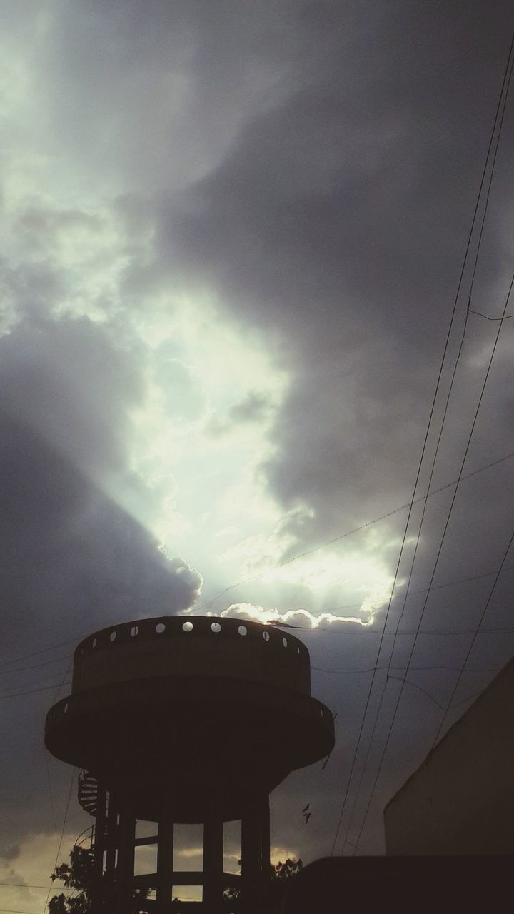
M 198 907 L 251 910 L 270 874 L 269 794 L 334 745 L 334 720 L 310 692 L 305 645 L 258 622 L 203 616 L 140 619 L 92 633 L 74 655 L 71 695 L 48 712 L 45 742 L 80 769 L 95 816 L 93 914 Z M 136 820 L 158 825 L 136 837 Z M 223 871 L 223 825 L 241 820 L 241 876 Z M 203 824 L 203 869 L 174 870 L 177 824 Z M 157 834 L 158 833 L 158 834 Z M 135 849 L 157 847 L 156 872 L 134 876 Z M 138 887 L 156 898 L 134 902 Z M 189 909 L 189 905 L 187 905 Z

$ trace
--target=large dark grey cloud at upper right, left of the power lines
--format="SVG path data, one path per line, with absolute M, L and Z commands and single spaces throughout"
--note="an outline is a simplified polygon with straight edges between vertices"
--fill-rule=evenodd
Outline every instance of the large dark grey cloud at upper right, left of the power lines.
M 346 7 L 323 5 L 312 28 L 316 5 L 293 6 L 308 49 L 296 90 L 172 199 L 163 244 L 293 371 L 263 469 L 285 506 L 314 506 L 319 537 L 341 512 L 362 519 L 363 505 L 389 505 L 412 484 L 507 7 L 392 4 L 371 26 L 363 9 L 348 29 Z M 500 189 L 506 180 L 500 172 Z M 481 268 L 498 278 L 498 186 L 493 199 L 495 245 Z

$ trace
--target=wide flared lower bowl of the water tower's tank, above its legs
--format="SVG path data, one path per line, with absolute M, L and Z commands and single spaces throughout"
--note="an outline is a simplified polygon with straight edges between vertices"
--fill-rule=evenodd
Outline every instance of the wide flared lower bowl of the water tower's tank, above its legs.
M 140 819 L 203 822 L 219 798 L 241 819 L 259 786 L 324 758 L 334 722 L 316 699 L 276 685 L 166 676 L 97 686 L 48 712 L 45 742 L 91 771 Z

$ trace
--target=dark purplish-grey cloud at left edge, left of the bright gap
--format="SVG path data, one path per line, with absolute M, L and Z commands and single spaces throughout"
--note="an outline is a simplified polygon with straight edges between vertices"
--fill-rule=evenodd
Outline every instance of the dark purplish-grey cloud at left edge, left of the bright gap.
M 197 571 L 166 558 L 102 490 L 106 477 L 123 473 L 126 410 L 141 383 L 123 351 L 85 320 L 35 321 L 0 340 L 0 704 L 4 732 L 13 735 L 2 756 L 9 844 L 27 830 L 54 827 L 35 765 L 42 764 L 52 692 L 36 701 L 5 696 L 47 685 L 55 692 L 67 678 L 71 648 L 22 660 L 14 671 L 13 658 L 109 622 L 185 610 L 201 587 Z M 60 664 L 24 670 L 54 657 Z M 60 782 L 64 772 L 56 776 Z

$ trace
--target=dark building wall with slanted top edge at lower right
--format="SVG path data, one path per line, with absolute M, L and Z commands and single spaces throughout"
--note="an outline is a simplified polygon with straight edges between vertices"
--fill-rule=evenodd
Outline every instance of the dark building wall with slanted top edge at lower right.
M 385 808 L 388 855 L 514 853 L 514 658 Z

